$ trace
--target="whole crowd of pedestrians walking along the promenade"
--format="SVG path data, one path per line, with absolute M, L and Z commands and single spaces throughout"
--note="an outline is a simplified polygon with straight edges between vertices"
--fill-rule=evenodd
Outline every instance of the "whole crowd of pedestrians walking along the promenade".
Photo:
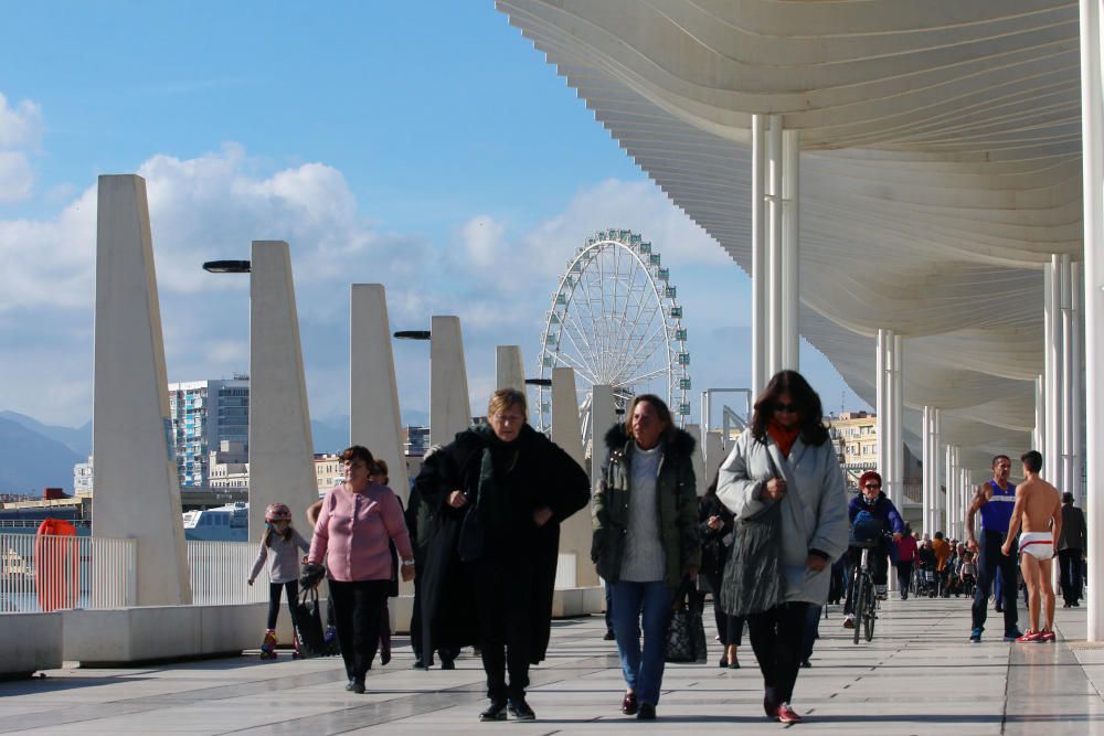
M 712 597 L 721 668 L 741 666 L 746 629 L 764 714 L 785 724 L 802 721 L 795 687 L 800 669 L 811 666 L 825 605 L 842 600 L 843 626 L 856 626 L 852 569 L 863 550 L 878 599 L 888 595 L 891 565 L 902 600 L 973 597 L 970 641 L 981 640 L 990 595 L 1006 641 L 1053 640 L 1054 557 L 1064 605 L 1080 605 L 1084 516 L 1070 493 L 1060 502 L 1039 477 L 1038 452 L 1022 457 L 1019 486 L 1009 481 L 1010 459 L 994 459 L 959 541 L 914 532 L 874 470 L 848 500 L 820 398 L 794 371 L 776 374 L 756 398 L 749 428 L 701 498 L 694 439 L 658 396 L 636 396 L 625 420 L 608 429 L 604 449 L 595 449 L 605 462 L 593 482 L 527 417 L 524 393 L 496 391 L 486 425 L 427 454 L 405 509 L 385 463 L 368 448 L 348 448 L 343 482 L 308 510 L 309 543 L 290 527 L 287 506 L 269 506 L 248 578 L 252 585 L 268 564 L 266 644 L 275 643 L 282 595 L 295 622 L 299 586 L 325 579 L 346 689 L 363 693 L 375 655 L 390 660 L 388 598 L 400 579 L 413 580 L 415 668 L 439 661 L 453 669 L 473 647 L 487 683 L 479 719 L 533 719 L 529 670 L 548 655 L 560 525 L 588 503 L 591 557 L 606 584 L 606 639 L 625 680 L 619 710 L 643 721 L 658 715 L 672 606 L 688 591 L 697 610 Z M 1017 626 L 1018 546 L 1026 633 Z M 307 551 L 301 577 L 299 550 Z

